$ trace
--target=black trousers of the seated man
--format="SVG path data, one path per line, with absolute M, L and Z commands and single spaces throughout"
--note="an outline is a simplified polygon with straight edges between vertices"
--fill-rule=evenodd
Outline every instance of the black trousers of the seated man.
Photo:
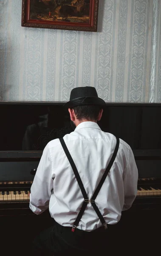
M 34 239 L 32 253 L 34 256 L 67 256 L 69 253 L 89 256 L 109 252 L 112 244 L 110 230 L 108 226 L 107 230 L 101 227 L 92 232 L 79 229 L 72 232 L 71 227 L 63 227 L 55 222 L 54 226 Z

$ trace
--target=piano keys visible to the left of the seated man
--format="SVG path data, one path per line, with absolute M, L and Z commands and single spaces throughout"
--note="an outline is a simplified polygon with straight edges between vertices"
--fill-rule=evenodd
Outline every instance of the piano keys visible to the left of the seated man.
M 26 201 L 29 200 L 30 191 L 0 191 L 0 201 Z

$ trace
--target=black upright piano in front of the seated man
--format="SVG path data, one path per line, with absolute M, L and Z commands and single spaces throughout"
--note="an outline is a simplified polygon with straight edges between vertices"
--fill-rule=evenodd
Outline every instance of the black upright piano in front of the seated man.
M 63 104 L 0 102 L 2 244 L 10 230 L 12 245 L 24 247 L 53 223 L 48 211 L 31 212 L 28 192 L 45 145 L 72 131 Z M 131 146 L 138 166 L 138 194 L 118 227 L 155 233 L 161 227 L 161 104 L 107 103 L 98 124 Z

